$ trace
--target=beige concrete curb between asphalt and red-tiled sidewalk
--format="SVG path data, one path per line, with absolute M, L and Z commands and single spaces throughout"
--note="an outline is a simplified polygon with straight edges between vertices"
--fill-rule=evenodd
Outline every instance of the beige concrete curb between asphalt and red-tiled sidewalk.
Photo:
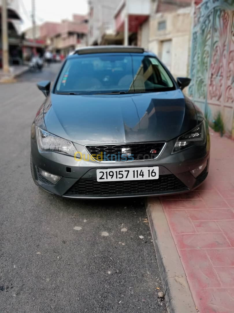
M 159 198 L 145 201 L 169 313 L 197 313 L 188 281 Z

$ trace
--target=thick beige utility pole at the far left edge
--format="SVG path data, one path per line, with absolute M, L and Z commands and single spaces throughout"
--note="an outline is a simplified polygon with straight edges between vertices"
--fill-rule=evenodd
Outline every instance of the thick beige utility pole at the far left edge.
M 7 0 L 2 0 L 2 69 L 9 73 Z

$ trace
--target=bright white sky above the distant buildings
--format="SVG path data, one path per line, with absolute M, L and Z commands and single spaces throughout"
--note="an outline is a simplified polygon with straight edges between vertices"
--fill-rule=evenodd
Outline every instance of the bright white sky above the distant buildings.
M 20 15 L 23 23 L 21 29 L 32 26 L 32 0 L 18 0 Z M 87 0 L 35 0 L 36 22 L 60 22 L 61 19 L 71 19 L 72 14 L 86 14 L 88 12 Z

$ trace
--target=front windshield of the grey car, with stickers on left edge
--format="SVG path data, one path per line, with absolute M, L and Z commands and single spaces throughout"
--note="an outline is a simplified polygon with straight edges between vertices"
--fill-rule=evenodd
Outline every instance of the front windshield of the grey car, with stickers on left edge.
M 55 93 L 110 94 L 175 89 L 157 58 L 136 54 L 92 54 L 68 59 Z

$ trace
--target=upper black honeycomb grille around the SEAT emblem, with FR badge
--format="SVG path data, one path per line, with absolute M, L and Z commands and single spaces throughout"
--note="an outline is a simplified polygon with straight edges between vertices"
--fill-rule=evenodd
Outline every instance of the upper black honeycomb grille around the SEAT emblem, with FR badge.
M 130 161 L 140 161 L 140 160 L 149 160 L 156 159 L 160 152 L 162 151 L 165 142 L 145 142 L 145 143 L 129 143 L 129 144 L 113 144 L 113 145 L 93 145 L 85 146 L 91 155 L 100 155 L 102 153 L 102 159 L 100 156 L 97 158 L 97 161 L 127 161 L 126 158 L 121 157 L 122 148 L 131 149 L 131 159 Z M 154 153 L 151 153 L 151 150 L 155 150 Z

